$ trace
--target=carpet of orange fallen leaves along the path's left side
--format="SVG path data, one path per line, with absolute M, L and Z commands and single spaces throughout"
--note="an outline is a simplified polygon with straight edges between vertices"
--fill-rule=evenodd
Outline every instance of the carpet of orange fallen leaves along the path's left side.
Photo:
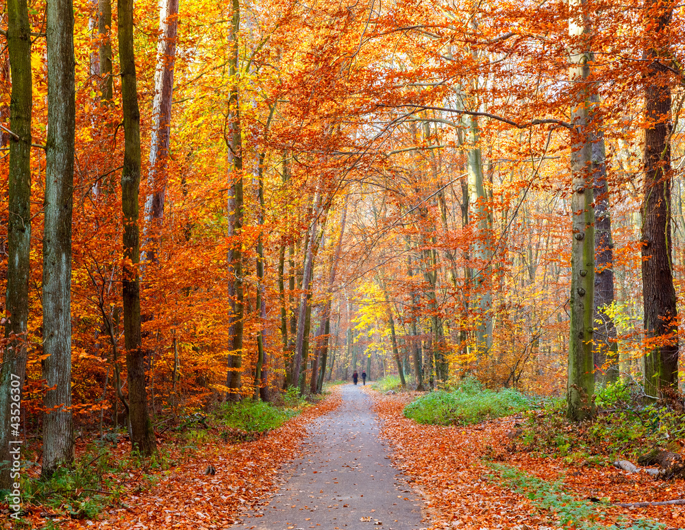
M 179 466 L 155 472 L 152 477 L 155 485 L 147 492 L 137 492 L 142 477 L 132 474 L 134 479 L 127 483 L 121 505 L 101 514 L 101 520 L 68 520 L 60 528 L 212 530 L 229 527 L 242 509 L 254 507 L 262 496 L 273 490 L 279 467 L 295 457 L 300 442 L 306 437 L 307 424 L 338 405 L 340 392 L 334 388 L 325 400 L 253 442 L 234 445 L 211 442 Z M 213 466 L 216 474 L 206 474 L 208 466 Z M 40 507 L 31 511 L 33 515 L 28 519 L 34 527 L 42 528 Z

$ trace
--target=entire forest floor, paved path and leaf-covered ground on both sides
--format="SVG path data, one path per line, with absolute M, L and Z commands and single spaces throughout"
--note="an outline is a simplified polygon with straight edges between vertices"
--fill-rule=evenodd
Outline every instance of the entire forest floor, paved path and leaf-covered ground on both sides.
M 349 389 L 355 394 L 353 403 Z M 516 417 L 471 426 L 416 424 L 402 411 L 420 395 L 387 395 L 368 386 L 332 387 L 327 398 L 253 441 L 225 443 L 212 429 L 206 437 L 186 442 L 185 448 L 171 437 L 162 439 L 157 468 L 142 464 L 114 475 L 110 484 L 117 484 L 116 500 L 97 516 L 69 518 L 63 506 L 55 510 L 28 503 L 25 525 L 3 522 L 0 510 L 0 528 L 685 529 L 682 505 L 612 505 L 685 498 L 684 480 L 662 481 L 589 462 L 574 466 L 564 459 L 518 452 L 510 437 L 522 421 Z M 379 438 L 386 440 L 385 449 L 375 446 Z M 364 455 L 338 454 L 340 443 Z M 369 444 L 374 446 L 373 457 Z M 112 449 L 112 458 L 130 459 L 129 449 L 120 443 Z M 337 478 L 343 470 L 337 462 L 329 466 L 336 471 L 334 477 L 324 473 L 332 456 L 348 460 L 349 484 Z M 366 456 L 368 462 L 356 460 Z M 206 474 L 210 466 L 215 474 Z M 377 473 L 371 466 L 387 468 Z M 397 477 L 397 470 L 403 478 Z M 393 482 L 394 487 L 378 499 L 361 491 L 384 489 L 375 482 L 382 477 L 388 479 L 384 486 Z M 399 506 L 379 505 L 400 503 L 400 498 L 409 507 L 405 516 L 399 516 Z M 417 501 L 421 498 L 423 503 Z M 302 520 L 279 519 L 283 514 L 277 508 L 284 505 L 295 507 L 292 513 Z M 347 518 L 338 515 L 343 508 Z M 393 516 L 395 511 L 398 516 Z

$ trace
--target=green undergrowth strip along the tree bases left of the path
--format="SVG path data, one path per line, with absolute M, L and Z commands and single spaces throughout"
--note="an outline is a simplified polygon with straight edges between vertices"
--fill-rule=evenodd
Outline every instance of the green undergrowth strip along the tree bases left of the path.
M 40 505 L 48 514 L 53 514 L 55 521 L 49 517 L 45 528 L 58 527 L 56 518 L 97 518 L 112 505 L 125 507 L 121 498 L 131 492 L 131 482 L 136 483 L 134 492 L 149 490 L 155 485 L 157 472 L 177 466 L 180 461 L 205 450 L 207 444 L 220 439 L 230 441 L 226 433 L 240 433 L 230 437 L 236 442 L 251 439 L 282 425 L 307 405 L 308 400 L 301 398 L 297 389 L 289 389 L 280 396 L 277 405 L 242 400 L 223 403 L 209 415 L 200 412 L 179 415 L 175 426 L 164 429 L 171 439 L 149 459 L 143 459 L 136 451 L 122 457 L 109 443 L 95 442 L 79 455 L 71 468 L 59 468 L 49 479 L 29 473 L 29 468 L 38 464 L 23 459 L 22 505 Z M 111 433 L 110 437 L 116 439 Z M 175 448 L 176 459 L 171 457 L 170 448 Z M 0 490 L 0 502 L 7 494 Z M 15 526 L 30 527 L 21 520 Z

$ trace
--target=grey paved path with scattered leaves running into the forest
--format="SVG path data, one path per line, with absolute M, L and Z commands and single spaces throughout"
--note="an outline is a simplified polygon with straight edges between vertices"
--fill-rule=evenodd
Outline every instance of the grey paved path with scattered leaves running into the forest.
M 361 386 L 341 388 L 342 404 L 312 422 L 303 454 L 284 469 L 271 503 L 232 528 L 421 528 L 421 500 L 390 463 L 373 400 Z

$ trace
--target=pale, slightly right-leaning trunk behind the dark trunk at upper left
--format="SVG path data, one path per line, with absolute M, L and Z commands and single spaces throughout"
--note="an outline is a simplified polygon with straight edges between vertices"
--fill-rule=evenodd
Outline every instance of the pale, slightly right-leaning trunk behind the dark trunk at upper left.
M 155 70 L 155 96 L 152 101 L 152 131 L 150 136 L 150 171 L 147 175 L 149 195 L 145 199 L 145 230 L 149 245 L 146 259 L 156 263 L 159 247 L 159 230 L 164 219 L 166 169 L 169 163 L 169 137 L 171 135 L 171 100 L 173 96 L 173 69 L 176 60 L 178 28 L 178 0 L 160 0 L 160 36 L 157 43 L 157 69 Z M 146 234 L 147 236 L 147 234 Z

